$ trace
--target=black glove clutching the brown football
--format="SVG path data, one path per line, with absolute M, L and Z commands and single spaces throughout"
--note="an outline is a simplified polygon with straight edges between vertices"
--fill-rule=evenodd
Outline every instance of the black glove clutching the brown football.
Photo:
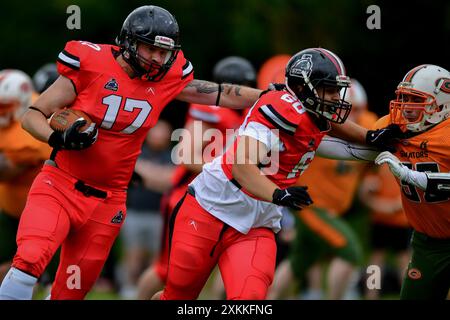
M 86 120 L 79 119 L 65 131 L 53 131 L 48 144 L 55 149 L 81 150 L 90 147 L 97 141 L 98 130 L 92 123 L 86 130 L 78 129 L 86 124 Z

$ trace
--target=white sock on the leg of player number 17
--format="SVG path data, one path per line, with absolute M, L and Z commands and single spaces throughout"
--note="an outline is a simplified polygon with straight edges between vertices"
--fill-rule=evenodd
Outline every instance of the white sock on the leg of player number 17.
M 0 300 L 31 300 L 37 278 L 11 267 L 0 286 Z

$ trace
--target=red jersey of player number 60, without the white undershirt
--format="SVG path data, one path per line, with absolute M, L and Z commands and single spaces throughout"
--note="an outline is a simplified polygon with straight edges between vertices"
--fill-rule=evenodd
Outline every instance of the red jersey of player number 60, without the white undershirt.
M 278 146 L 275 148 L 279 150 L 278 159 L 274 157 L 274 148 L 271 148 L 272 163 L 267 164 L 261 171 L 280 188 L 296 182 L 314 158 L 317 147 L 330 129 L 329 123 L 325 123 L 326 128 L 323 130 L 319 129 L 300 100 L 285 90 L 263 95 L 248 112 L 241 130 L 245 132 L 252 123 L 257 123 L 256 128 L 260 131 L 258 134 L 264 135 L 264 131 L 271 130 L 271 135 L 278 137 Z M 232 163 L 237 144 L 238 140 L 222 157 L 222 168 L 229 179 L 232 178 Z M 269 167 L 271 171 L 275 171 L 269 173 Z

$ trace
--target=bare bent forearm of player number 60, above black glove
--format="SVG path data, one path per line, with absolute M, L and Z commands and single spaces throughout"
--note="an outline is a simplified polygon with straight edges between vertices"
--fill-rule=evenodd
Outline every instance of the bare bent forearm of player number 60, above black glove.
M 264 176 L 256 165 L 234 164 L 233 178 L 252 195 L 268 202 L 272 202 L 272 196 L 278 186 Z

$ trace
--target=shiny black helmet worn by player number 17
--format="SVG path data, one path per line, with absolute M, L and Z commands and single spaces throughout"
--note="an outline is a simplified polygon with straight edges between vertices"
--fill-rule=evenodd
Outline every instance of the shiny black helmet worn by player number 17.
M 169 50 L 165 62 L 159 65 L 139 56 L 137 50 L 139 42 Z M 169 11 L 158 6 L 142 6 L 125 19 L 116 43 L 123 58 L 137 76 L 149 81 L 159 81 L 172 67 L 181 49 L 180 30 L 175 17 Z M 143 68 L 140 61 L 149 64 L 150 67 Z

